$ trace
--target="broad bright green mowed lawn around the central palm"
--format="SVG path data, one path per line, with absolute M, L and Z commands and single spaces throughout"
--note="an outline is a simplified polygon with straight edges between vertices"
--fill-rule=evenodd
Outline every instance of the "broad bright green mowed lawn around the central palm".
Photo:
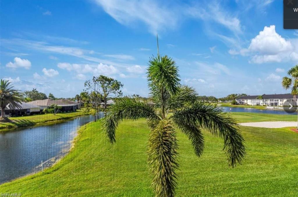
M 243 114 L 236 116 L 243 118 Z M 74 148 L 60 162 L 44 173 L 0 185 L 0 193 L 154 196 L 146 159 L 149 129 L 145 119 L 121 122 L 114 145 L 100 128 L 100 121 L 81 127 Z M 197 157 L 188 138 L 177 131 L 176 196 L 298 196 L 298 134 L 290 128 L 240 126 L 240 130 L 247 155 L 243 165 L 235 168 L 228 167 L 220 138 L 204 131 L 204 154 Z

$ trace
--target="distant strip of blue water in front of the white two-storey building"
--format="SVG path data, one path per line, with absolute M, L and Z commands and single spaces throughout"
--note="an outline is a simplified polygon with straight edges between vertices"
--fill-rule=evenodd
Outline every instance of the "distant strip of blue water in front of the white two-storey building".
M 256 109 L 246 107 L 219 107 L 224 112 L 249 112 L 249 113 L 262 113 L 262 114 L 279 114 L 279 115 L 297 115 L 297 113 L 288 114 L 284 110 L 277 109 Z

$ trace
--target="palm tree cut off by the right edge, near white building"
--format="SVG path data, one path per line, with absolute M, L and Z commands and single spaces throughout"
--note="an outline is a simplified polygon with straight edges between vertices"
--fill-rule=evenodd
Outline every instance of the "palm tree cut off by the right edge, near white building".
M 281 82 L 284 89 L 291 88 L 291 94 L 293 98 L 296 99 L 296 95 L 298 94 L 298 65 L 294 66 L 288 71 L 288 75 L 291 77 L 283 77 L 283 81 Z M 295 102 L 297 105 L 297 103 Z M 297 129 L 298 129 L 298 120 L 297 120 Z

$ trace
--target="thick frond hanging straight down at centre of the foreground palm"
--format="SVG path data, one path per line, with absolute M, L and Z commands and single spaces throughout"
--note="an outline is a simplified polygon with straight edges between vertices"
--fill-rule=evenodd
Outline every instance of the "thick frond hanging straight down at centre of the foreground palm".
M 160 120 L 151 130 L 148 144 L 148 163 L 153 176 L 152 187 L 156 196 L 172 197 L 177 185 L 177 137 L 171 121 Z

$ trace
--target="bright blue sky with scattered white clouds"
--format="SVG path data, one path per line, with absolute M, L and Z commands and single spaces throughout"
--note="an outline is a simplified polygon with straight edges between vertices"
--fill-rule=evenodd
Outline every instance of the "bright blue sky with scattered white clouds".
M 0 1 L 0 72 L 16 88 L 72 97 L 93 75 L 148 96 L 156 54 L 179 66 L 200 95 L 286 93 L 298 31 L 283 29 L 281 0 Z

